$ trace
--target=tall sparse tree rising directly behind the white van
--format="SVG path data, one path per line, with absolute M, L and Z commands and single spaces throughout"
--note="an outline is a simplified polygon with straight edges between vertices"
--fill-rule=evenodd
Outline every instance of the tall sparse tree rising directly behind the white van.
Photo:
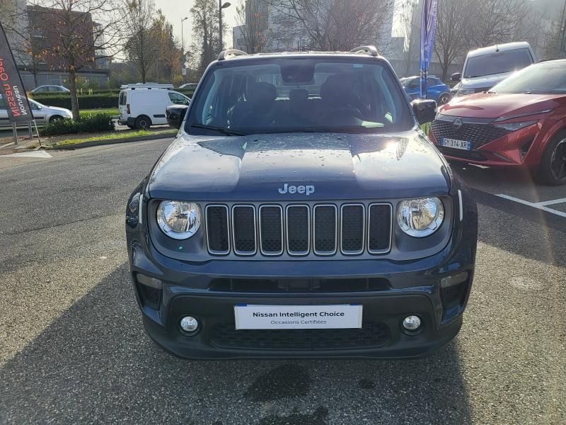
M 127 59 L 136 64 L 141 82 L 145 83 L 158 55 L 151 34 L 151 26 L 154 25 L 155 4 L 154 0 L 130 0 L 127 1 L 126 7 L 128 25 L 125 30 L 127 40 L 125 53 Z

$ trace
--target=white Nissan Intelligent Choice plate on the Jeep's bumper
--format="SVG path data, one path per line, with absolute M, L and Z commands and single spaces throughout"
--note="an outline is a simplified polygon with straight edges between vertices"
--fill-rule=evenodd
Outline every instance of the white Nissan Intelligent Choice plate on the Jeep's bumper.
M 236 329 L 362 327 L 362 305 L 234 305 Z

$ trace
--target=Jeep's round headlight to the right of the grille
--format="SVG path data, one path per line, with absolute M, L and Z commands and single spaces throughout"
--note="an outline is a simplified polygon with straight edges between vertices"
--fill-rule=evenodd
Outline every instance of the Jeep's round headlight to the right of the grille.
M 397 222 L 409 236 L 429 236 L 437 231 L 442 220 L 444 207 L 439 198 L 408 199 L 399 204 Z

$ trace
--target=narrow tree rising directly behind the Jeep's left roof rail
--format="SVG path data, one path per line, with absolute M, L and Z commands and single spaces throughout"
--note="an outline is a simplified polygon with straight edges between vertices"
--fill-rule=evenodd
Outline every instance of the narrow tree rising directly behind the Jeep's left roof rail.
M 241 0 L 236 7 L 236 23 L 242 28 L 246 52 L 264 52 L 270 43 L 267 5 L 261 0 Z

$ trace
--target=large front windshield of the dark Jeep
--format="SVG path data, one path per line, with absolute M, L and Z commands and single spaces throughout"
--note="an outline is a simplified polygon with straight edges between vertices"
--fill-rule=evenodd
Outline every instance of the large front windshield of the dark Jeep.
M 193 98 L 185 130 L 199 135 L 230 130 L 224 134 L 236 135 L 412 128 L 414 120 L 394 74 L 376 60 L 352 61 L 310 57 L 219 62 Z

